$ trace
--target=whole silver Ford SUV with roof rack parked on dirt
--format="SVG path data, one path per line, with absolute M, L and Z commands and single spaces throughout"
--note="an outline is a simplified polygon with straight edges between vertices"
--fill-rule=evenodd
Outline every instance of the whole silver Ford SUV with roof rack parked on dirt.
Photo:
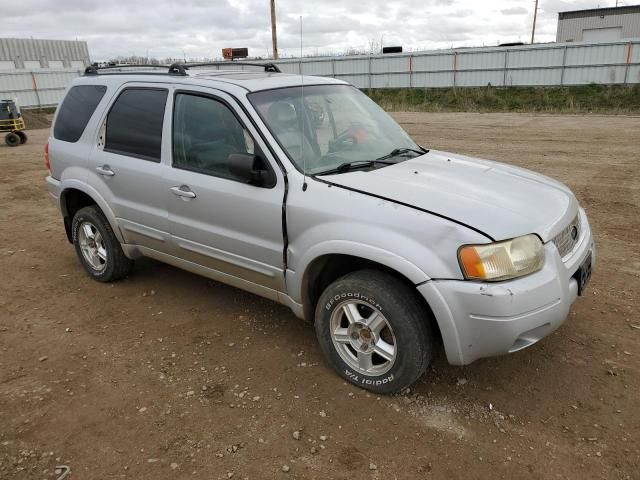
M 270 64 L 89 68 L 46 151 L 95 280 L 150 257 L 312 322 L 331 366 L 389 393 L 553 332 L 595 260 L 563 184 L 427 150 L 345 82 Z

